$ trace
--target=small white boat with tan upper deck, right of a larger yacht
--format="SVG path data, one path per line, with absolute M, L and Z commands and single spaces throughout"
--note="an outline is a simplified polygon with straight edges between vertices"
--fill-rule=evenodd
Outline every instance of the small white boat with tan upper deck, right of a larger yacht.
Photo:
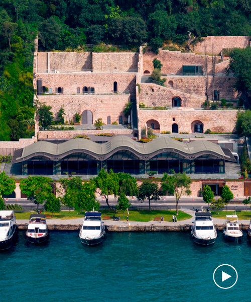
M 237 215 L 226 215 L 226 224 L 223 229 L 223 236 L 229 241 L 240 241 L 243 234 L 239 229 Z

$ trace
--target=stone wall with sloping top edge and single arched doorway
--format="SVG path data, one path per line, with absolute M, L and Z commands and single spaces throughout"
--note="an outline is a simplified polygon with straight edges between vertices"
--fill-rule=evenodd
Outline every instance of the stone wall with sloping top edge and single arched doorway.
M 197 97 L 176 91 L 171 88 L 162 87 L 156 84 L 141 84 L 139 102 L 145 103 L 146 107 L 170 106 L 172 107 L 173 97 L 180 97 L 182 107 L 200 108 L 205 103 L 205 97 Z

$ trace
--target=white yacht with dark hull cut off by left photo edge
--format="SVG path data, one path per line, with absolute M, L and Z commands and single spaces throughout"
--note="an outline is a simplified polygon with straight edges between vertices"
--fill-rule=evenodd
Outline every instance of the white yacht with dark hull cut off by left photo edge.
M 14 211 L 0 211 L 0 250 L 8 250 L 13 246 L 17 230 Z

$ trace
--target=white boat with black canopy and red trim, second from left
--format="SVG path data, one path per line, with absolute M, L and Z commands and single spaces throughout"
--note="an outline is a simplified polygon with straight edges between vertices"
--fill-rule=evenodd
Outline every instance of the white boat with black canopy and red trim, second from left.
M 29 242 L 34 244 L 44 243 L 48 240 L 49 232 L 44 214 L 30 215 L 26 237 Z

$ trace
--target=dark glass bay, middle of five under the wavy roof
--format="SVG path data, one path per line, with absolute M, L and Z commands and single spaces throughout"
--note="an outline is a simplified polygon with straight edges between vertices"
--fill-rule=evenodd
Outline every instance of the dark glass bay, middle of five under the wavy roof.
M 140 174 L 140 161 L 107 161 L 107 171 Z

